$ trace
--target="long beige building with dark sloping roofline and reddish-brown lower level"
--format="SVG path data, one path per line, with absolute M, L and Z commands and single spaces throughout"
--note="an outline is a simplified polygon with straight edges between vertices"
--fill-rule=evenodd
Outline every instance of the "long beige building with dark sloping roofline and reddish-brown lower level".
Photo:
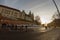
M 0 5 L 0 29 L 2 27 L 7 29 L 10 26 L 14 26 L 12 28 L 16 29 L 18 25 L 20 25 L 21 28 L 22 26 L 33 24 L 37 25 L 34 21 L 34 15 L 31 12 L 26 14 L 24 10 L 20 11 L 15 8 Z

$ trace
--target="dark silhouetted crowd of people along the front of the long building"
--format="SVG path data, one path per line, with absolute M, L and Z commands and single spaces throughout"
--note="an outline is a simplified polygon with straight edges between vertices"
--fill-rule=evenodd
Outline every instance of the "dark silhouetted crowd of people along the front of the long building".
M 5 24 L 5 23 L 3 23 L 2 25 L 1 25 L 1 29 L 3 29 L 3 30 L 6 30 L 6 29 L 10 29 L 10 30 L 19 30 L 19 31 L 23 31 L 24 29 L 23 29 L 23 27 L 25 27 L 25 31 L 27 31 L 27 26 L 17 26 L 17 25 L 13 25 L 13 24 Z

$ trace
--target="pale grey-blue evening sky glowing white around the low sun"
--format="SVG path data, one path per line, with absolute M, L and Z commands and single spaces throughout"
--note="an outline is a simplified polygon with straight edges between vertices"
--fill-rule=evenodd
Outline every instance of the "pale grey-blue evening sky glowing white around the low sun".
M 55 0 L 60 10 L 60 0 Z M 41 21 L 49 23 L 52 15 L 57 12 L 52 0 L 0 0 L 0 4 L 19 10 L 25 10 L 26 13 L 32 11 L 35 16 L 40 16 Z

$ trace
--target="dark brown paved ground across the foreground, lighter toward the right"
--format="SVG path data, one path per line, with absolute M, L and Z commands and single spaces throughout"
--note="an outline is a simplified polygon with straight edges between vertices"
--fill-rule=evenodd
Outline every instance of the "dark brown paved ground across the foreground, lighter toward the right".
M 0 40 L 60 40 L 60 28 L 41 32 L 0 32 Z

